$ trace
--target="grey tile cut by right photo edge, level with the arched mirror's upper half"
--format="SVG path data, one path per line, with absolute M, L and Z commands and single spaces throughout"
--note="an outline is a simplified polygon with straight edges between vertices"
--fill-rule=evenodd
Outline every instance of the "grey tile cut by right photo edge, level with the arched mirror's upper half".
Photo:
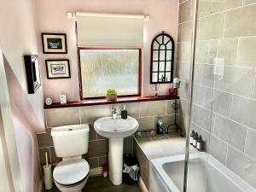
M 256 67 L 256 37 L 240 38 L 237 64 L 240 66 Z

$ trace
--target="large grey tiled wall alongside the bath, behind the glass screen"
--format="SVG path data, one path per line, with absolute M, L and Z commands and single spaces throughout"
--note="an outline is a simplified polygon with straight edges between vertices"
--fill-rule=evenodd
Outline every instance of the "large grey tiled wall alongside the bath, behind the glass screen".
M 177 75 L 182 79 L 179 121 L 184 127 L 192 30 L 190 7 L 190 0 L 180 1 Z M 205 138 L 209 153 L 254 187 L 255 10 L 255 0 L 199 1 L 191 125 Z

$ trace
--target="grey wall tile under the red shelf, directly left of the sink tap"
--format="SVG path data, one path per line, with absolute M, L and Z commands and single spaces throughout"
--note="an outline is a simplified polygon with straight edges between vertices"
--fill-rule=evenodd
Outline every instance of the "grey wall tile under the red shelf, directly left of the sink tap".
M 85 106 L 80 110 L 83 124 L 94 123 L 98 118 L 111 116 L 111 105 Z

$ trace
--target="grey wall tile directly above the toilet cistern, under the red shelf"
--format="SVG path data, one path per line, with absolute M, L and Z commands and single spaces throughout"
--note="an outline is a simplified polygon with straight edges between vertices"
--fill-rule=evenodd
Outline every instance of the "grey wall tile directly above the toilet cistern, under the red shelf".
M 80 124 L 79 108 L 55 108 L 45 110 L 48 127 Z

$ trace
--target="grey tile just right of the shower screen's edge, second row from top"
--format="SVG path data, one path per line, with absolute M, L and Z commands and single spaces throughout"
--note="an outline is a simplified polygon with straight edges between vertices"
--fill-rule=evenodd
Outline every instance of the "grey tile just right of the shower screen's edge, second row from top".
M 223 35 L 224 14 L 210 15 L 198 20 L 198 40 L 221 38 Z

